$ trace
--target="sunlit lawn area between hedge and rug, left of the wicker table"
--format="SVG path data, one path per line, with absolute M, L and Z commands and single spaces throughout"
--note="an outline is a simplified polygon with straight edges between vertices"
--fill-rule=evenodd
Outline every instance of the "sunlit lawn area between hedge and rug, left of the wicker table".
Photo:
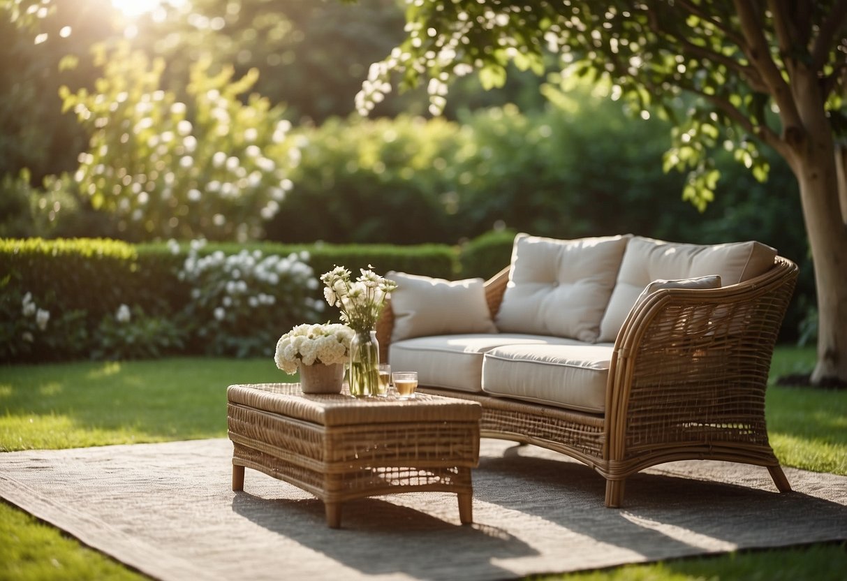
M 226 386 L 295 380 L 265 359 L 0 368 L 0 451 L 226 436 Z

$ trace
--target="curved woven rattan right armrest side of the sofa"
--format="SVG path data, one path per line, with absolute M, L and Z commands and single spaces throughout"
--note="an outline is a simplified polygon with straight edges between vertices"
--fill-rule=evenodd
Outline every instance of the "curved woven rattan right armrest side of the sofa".
M 765 390 L 796 276 L 797 266 L 778 257 L 755 279 L 659 290 L 634 307 L 617 337 L 606 392 L 606 457 L 615 476 L 669 462 L 686 448 L 689 457 L 779 469 L 767 440 Z

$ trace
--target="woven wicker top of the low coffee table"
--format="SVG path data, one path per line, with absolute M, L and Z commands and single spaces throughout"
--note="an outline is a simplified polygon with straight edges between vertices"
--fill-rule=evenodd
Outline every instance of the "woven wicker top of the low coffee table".
M 324 426 L 360 423 L 475 421 L 482 416 L 476 401 L 417 393 L 409 400 L 397 396 L 357 398 L 340 394 L 304 394 L 300 384 L 230 385 L 227 401 L 318 423 Z

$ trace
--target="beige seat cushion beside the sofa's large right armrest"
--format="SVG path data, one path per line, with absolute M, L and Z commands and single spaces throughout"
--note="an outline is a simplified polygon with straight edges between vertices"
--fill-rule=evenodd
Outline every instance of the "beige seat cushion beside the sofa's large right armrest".
M 606 382 L 614 347 L 508 345 L 485 353 L 483 390 L 580 412 L 606 411 Z

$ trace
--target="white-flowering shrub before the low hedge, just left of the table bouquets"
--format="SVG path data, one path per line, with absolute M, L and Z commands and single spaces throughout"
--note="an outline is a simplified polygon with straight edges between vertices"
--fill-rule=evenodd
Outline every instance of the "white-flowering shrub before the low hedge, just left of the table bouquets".
M 268 356 L 280 328 L 315 321 L 324 309 L 311 295 L 318 280 L 308 253 L 264 256 L 242 250 L 201 256 L 203 240 L 192 241 L 178 274 L 191 285 L 185 320 L 207 355 Z

